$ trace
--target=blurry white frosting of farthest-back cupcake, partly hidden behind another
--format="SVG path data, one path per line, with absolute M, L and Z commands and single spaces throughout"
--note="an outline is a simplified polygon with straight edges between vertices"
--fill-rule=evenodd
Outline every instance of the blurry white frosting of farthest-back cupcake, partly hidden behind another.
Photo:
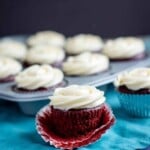
M 55 31 L 37 32 L 35 35 L 30 36 L 27 40 L 29 46 L 53 45 L 62 47 L 64 45 L 64 42 L 64 35 Z

